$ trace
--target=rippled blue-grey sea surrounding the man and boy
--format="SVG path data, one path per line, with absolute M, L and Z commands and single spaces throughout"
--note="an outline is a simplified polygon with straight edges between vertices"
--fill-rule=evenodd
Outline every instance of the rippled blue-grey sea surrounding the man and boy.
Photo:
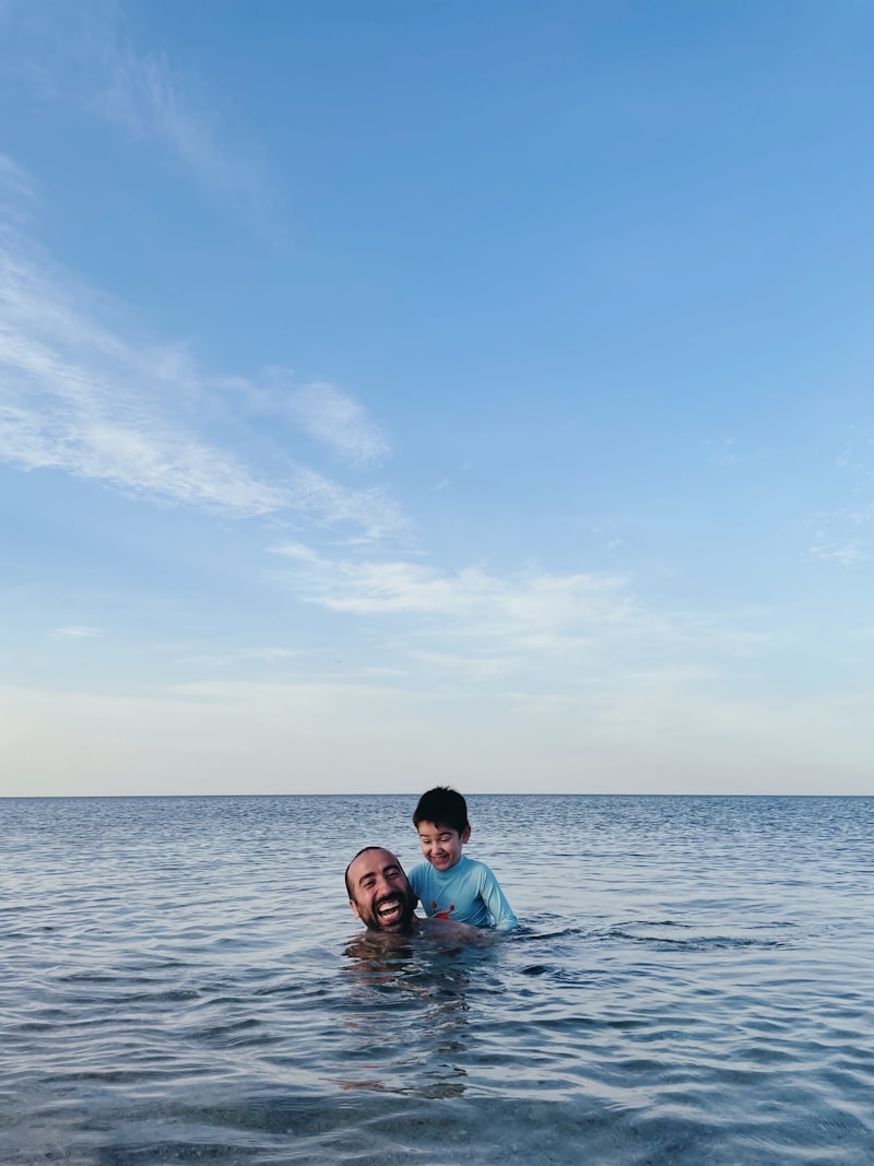
M 874 799 L 474 796 L 524 926 L 360 958 L 414 803 L 0 801 L 0 1163 L 874 1163 Z

